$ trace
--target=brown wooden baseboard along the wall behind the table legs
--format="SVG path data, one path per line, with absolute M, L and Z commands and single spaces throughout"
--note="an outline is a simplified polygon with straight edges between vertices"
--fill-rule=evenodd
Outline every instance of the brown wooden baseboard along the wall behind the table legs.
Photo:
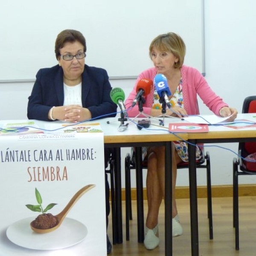
M 189 198 L 189 186 L 176 187 L 176 198 Z M 198 198 L 207 198 L 207 186 L 198 186 Z M 256 184 L 239 185 L 239 196 L 256 196 Z M 212 197 L 233 197 L 233 185 L 212 186 Z M 136 200 L 136 188 L 131 188 L 131 200 Z M 146 188 L 143 198 L 147 199 Z M 125 189 L 122 189 L 122 200 L 125 200 Z

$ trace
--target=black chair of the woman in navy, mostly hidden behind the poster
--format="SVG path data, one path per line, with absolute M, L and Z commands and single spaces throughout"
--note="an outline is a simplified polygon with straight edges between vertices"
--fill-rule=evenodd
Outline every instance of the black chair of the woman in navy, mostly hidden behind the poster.
M 115 204 L 115 183 L 114 183 L 114 157 L 113 154 L 108 159 L 108 167 L 105 172 L 110 175 L 110 185 L 111 185 L 111 215 L 112 215 L 112 234 L 113 234 L 113 244 L 116 244 L 116 204 Z

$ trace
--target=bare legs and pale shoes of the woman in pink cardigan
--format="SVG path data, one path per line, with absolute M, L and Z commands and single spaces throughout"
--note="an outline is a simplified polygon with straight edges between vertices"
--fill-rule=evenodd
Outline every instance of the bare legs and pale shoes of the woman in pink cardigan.
M 177 177 L 177 163 L 181 159 L 175 146 L 172 144 L 172 236 L 180 236 L 183 233 L 177 215 L 175 200 L 175 186 Z M 165 148 L 151 147 L 148 150 L 147 172 L 148 215 L 146 219 L 144 245 L 148 250 L 153 250 L 159 245 L 158 215 L 163 198 L 165 198 Z

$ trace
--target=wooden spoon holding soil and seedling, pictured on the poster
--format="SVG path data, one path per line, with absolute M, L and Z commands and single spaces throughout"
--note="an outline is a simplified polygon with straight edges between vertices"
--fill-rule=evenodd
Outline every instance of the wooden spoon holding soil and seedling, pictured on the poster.
M 49 233 L 49 232 L 56 230 L 58 227 L 60 227 L 60 225 L 61 225 L 62 221 L 64 220 L 64 218 L 66 217 L 67 213 L 70 211 L 70 209 L 73 207 L 73 205 L 76 204 L 76 202 L 79 200 L 79 198 L 81 198 L 81 196 L 84 195 L 84 193 L 86 193 L 87 191 L 89 191 L 90 189 L 92 189 L 94 187 L 95 187 L 94 184 L 90 184 L 90 185 L 82 187 L 78 192 L 76 192 L 76 194 L 73 196 L 73 198 L 70 199 L 67 206 L 59 214 L 54 216 L 57 219 L 56 226 L 54 226 L 52 228 L 48 228 L 48 229 L 39 229 L 39 228 L 33 227 L 33 221 L 32 221 L 30 223 L 30 227 L 32 228 L 33 231 L 40 233 L 40 234 Z

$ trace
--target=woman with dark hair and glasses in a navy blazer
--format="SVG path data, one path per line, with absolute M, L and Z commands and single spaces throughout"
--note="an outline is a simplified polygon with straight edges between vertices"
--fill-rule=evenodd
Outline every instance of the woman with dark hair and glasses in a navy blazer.
M 111 100 L 111 84 L 106 70 L 85 64 L 86 42 L 81 32 L 66 29 L 55 41 L 58 65 L 40 69 L 29 96 L 27 116 L 44 121 L 81 122 L 116 116 L 117 105 Z M 110 149 L 105 149 L 105 167 Z M 107 175 L 106 175 L 107 176 Z M 106 177 L 106 221 L 108 226 L 109 184 Z M 107 250 L 112 245 L 107 236 Z

